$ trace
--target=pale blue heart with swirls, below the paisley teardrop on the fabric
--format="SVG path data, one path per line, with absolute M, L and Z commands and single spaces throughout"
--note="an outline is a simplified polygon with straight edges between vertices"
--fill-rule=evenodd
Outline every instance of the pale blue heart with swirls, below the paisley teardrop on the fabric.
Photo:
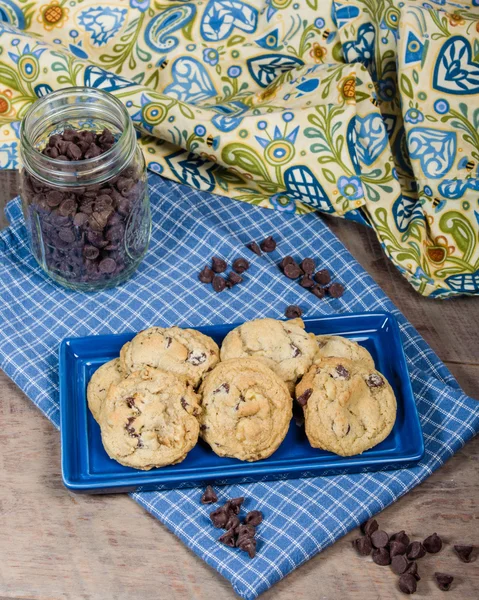
M 173 81 L 164 93 L 182 102 L 198 104 L 217 95 L 207 70 L 195 58 L 177 58 L 171 67 L 171 76 Z

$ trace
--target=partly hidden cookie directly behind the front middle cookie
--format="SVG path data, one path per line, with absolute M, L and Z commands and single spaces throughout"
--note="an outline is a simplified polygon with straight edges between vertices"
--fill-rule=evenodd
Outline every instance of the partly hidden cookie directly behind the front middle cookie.
M 317 350 L 314 335 L 306 333 L 302 319 L 257 319 L 233 329 L 221 346 L 221 360 L 261 359 L 286 382 L 291 392 L 306 373 Z

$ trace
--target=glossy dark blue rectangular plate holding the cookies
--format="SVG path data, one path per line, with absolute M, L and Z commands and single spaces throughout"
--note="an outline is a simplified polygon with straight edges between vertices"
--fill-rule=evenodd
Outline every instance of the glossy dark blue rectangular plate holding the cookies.
M 359 342 L 372 354 L 376 368 L 392 385 L 398 402 L 397 420 L 378 446 L 351 457 L 312 448 L 304 427 L 293 419 L 288 434 L 269 458 L 254 463 L 221 458 L 203 441 L 178 465 L 138 471 L 108 457 L 100 429 L 88 410 L 86 386 L 92 373 L 115 358 L 135 334 L 65 339 L 60 346 L 60 410 L 62 476 L 75 492 L 112 493 L 162 490 L 294 479 L 318 475 L 371 472 L 413 466 L 424 454 L 424 442 L 406 366 L 397 321 L 390 313 L 361 313 L 305 319 L 315 334 L 336 334 Z M 197 327 L 221 344 L 239 323 Z

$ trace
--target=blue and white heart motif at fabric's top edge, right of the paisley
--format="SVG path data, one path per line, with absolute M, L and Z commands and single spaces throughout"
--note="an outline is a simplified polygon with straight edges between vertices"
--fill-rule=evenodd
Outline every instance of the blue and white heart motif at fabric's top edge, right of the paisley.
M 258 11 L 240 0 L 210 0 L 203 13 L 200 33 L 208 42 L 228 38 L 235 28 L 254 33 L 258 26 Z

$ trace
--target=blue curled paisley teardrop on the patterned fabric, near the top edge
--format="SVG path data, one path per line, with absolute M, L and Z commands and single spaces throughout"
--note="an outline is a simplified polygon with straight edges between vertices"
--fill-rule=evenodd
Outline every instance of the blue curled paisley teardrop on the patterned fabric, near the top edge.
M 171 52 L 179 44 L 173 32 L 183 29 L 196 15 L 194 4 L 172 6 L 158 13 L 145 29 L 145 42 L 155 52 Z M 162 58 L 158 61 L 161 64 Z

